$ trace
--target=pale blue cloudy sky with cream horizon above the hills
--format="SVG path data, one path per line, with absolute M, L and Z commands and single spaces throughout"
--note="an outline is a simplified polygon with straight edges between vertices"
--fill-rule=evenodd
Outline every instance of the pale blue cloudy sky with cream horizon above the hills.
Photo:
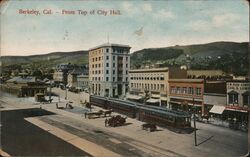
M 24 14 L 27 10 L 40 14 Z M 63 14 L 70 11 L 75 14 Z M 246 0 L 12 0 L 1 3 L 0 20 L 2 56 L 88 50 L 107 42 L 129 45 L 134 52 L 249 40 Z

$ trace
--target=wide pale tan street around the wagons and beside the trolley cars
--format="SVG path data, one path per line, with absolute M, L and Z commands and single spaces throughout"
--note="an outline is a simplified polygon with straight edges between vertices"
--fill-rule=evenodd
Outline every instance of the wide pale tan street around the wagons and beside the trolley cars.
M 61 94 L 60 97 L 63 98 L 64 91 L 57 92 L 58 90 L 60 89 L 53 89 L 53 92 Z M 16 105 L 18 100 L 19 103 Z M 44 110 L 55 114 L 35 118 L 122 156 L 233 157 L 243 156 L 247 153 L 247 133 L 245 132 L 197 122 L 198 146 L 194 146 L 193 133 L 179 134 L 161 127 L 158 127 L 155 132 L 148 132 L 141 129 L 143 122 L 136 119 L 127 118 L 128 125 L 125 126 L 105 127 L 105 118 L 84 118 L 83 113 L 86 109 L 79 107 L 81 105 L 76 103 L 79 102 L 79 94 L 69 92 L 68 100 L 73 102 L 73 106 L 75 106 L 73 110 L 56 109 L 55 102 L 42 104 L 41 107 Z M 1 101 L 5 102 L 3 106 L 6 106 L 2 110 L 11 108 L 10 104 L 14 104 L 13 108 L 40 107 L 40 105 L 32 103 L 29 98 L 4 96 L 1 97 Z M 7 105 L 8 102 L 11 103 Z M 61 99 L 59 105 L 65 106 L 65 103 L 65 100 Z M 93 110 L 99 109 L 94 107 Z M 5 150 L 7 151 L 7 149 Z

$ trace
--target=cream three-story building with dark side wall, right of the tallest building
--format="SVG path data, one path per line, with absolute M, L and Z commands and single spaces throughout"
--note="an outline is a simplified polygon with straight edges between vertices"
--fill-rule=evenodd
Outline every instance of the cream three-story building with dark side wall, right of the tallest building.
M 150 97 L 150 99 L 147 100 L 149 103 L 166 103 L 169 91 L 168 80 L 172 78 L 186 78 L 186 76 L 186 70 L 181 70 L 180 68 L 130 70 L 130 95 L 128 95 L 128 98 L 140 99 L 142 97 Z

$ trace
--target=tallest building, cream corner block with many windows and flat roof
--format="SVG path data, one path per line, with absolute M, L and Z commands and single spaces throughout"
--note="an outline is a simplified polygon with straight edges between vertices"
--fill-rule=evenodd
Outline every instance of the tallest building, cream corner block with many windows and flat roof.
M 89 84 L 92 94 L 125 96 L 128 90 L 130 46 L 106 43 L 89 50 Z

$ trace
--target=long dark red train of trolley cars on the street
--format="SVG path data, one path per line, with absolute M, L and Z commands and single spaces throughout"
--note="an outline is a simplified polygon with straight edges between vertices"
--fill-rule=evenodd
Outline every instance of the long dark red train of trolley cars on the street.
M 160 126 L 171 126 L 175 128 L 191 127 L 191 116 L 187 112 L 173 111 L 163 107 L 149 106 L 131 101 L 100 96 L 90 96 L 90 103 L 105 109 L 137 118 L 140 121 L 155 123 Z

